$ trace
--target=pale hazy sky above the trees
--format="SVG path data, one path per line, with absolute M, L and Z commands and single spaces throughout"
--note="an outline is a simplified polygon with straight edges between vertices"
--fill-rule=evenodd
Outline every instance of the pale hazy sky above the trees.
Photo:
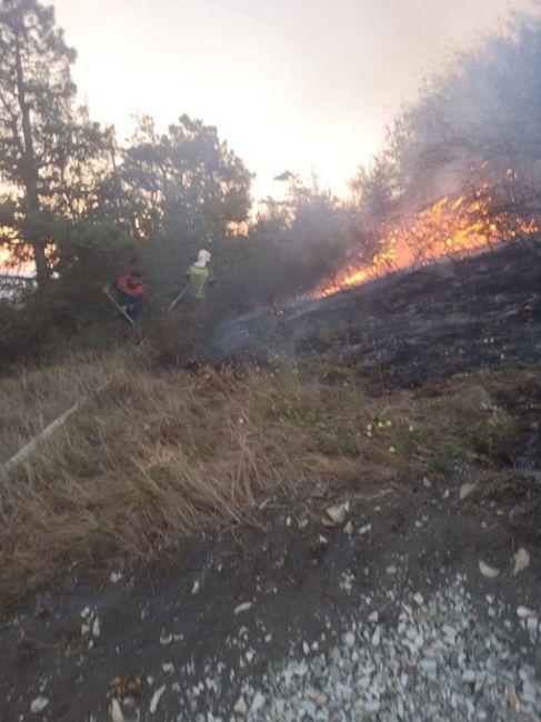
M 424 70 L 533 0 L 53 0 L 81 99 L 124 137 L 134 112 L 217 126 L 257 173 L 342 192 Z

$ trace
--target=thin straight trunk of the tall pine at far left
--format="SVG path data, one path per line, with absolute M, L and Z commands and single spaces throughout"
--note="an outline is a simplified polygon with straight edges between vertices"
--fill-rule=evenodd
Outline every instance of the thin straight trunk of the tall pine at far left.
M 19 108 L 21 110 L 22 121 L 22 136 L 24 139 L 24 154 L 23 154 L 23 172 L 24 172 L 24 188 L 27 191 L 27 211 L 29 213 L 38 213 L 40 210 L 40 201 L 38 193 L 38 166 L 33 151 L 32 140 L 32 123 L 30 118 L 30 107 L 27 103 L 24 71 L 21 60 L 21 46 L 19 40 L 19 32 L 16 30 L 16 69 L 17 69 L 17 96 L 19 100 Z M 50 279 L 49 267 L 47 264 L 46 242 L 39 238 L 26 239 L 30 242 L 33 250 L 33 258 L 36 262 L 36 274 L 38 279 L 38 288 L 43 288 Z

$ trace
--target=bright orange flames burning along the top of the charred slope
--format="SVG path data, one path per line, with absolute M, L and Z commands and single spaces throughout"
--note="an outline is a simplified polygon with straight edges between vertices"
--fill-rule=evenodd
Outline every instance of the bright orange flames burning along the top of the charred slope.
M 315 297 L 332 295 L 390 271 L 427 265 L 443 257 L 471 253 L 539 231 L 533 221 L 494 212 L 492 205 L 492 191 L 487 183 L 469 197 L 440 199 L 417 213 L 409 224 L 384 224 L 375 244 L 381 250 L 371 261 L 359 257 L 359 262 L 322 284 Z

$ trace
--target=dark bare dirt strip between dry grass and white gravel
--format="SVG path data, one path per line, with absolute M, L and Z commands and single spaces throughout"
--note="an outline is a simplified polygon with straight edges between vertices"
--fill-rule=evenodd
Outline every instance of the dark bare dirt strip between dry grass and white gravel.
M 128 702 L 126 719 L 229 720 L 270 664 L 302 658 L 314 643 L 309 655 L 329 654 L 352 620 L 377 611 L 391 624 L 413 594 L 429 599 L 457 575 L 479 619 L 491 625 L 489 608 L 499 609 L 500 621 L 512 622 L 511 646 L 540 669 L 515 610 L 541 615 L 541 553 L 512 532 L 510 509 L 460 501 L 459 487 L 430 480 L 373 489 L 360 479 L 358 492 L 339 500 L 314 491 L 308 508 L 271 501 L 259 528 L 192 541 L 143 575 L 88 585 L 71 574 L 62 592 L 37 599 L 0 635 L 0 719 L 106 721 L 113 689 Z M 321 521 L 331 502 L 349 509 L 334 528 Z M 513 576 L 519 546 L 531 563 Z M 483 576 L 480 560 L 499 575 Z M 122 682 L 111 688 L 116 678 Z M 47 706 L 31 713 L 40 699 Z

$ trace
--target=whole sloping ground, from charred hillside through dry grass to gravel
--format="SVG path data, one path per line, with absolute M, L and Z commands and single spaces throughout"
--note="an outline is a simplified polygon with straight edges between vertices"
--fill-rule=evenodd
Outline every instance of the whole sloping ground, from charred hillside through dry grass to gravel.
M 538 288 L 510 245 L 1 380 L 6 458 L 89 397 L 2 478 L 2 722 L 538 722 Z

